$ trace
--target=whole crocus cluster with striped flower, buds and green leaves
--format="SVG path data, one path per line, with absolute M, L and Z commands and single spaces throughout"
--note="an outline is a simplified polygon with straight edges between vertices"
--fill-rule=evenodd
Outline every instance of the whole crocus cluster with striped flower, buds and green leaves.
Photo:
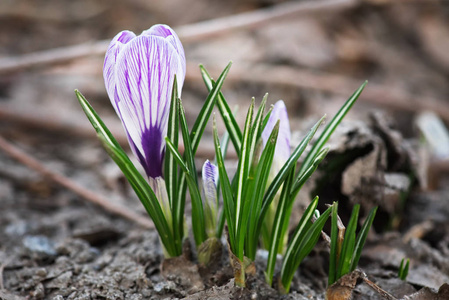
M 245 286 L 245 273 L 255 273 L 252 262 L 262 238 L 262 244 L 269 252 L 266 280 L 270 285 L 273 283 L 276 256 L 283 254 L 279 288 L 288 292 L 296 269 L 316 244 L 331 210 L 333 222 L 336 218 L 335 204 L 323 214 L 317 213 L 318 197 L 315 197 L 287 243 L 293 202 L 305 181 L 326 156 L 324 144 L 365 84 L 348 99 L 323 130 L 298 171 L 298 160 L 324 117 L 291 151 L 285 104 L 278 101 L 266 112 L 265 96 L 257 111 L 253 99 L 242 130 L 220 92 L 230 66 L 228 64 L 217 80 L 213 80 L 200 66 L 209 95 L 189 130 L 180 98 L 186 61 L 176 33 L 167 25 L 154 25 L 139 36 L 122 31 L 113 38 L 104 61 L 104 82 L 130 148 L 142 165 L 146 178 L 136 169 L 84 96 L 78 91 L 76 95 L 103 146 L 152 218 L 166 258 L 179 256 L 183 251 L 187 236 L 184 208 L 188 188 L 191 228 L 198 261 L 207 265 L 216 257 L 213 252 L 221 251 L 223 245 L 220 238 L 226 223 L 235 283 Z M 201 172 L 201 185 L 195 153 L 214 107 L 218 107 L 227 132 L 220 142 L 214 118 L 216 163 L 206 160 Z M 183 154 L 178 151 L 180 138 L 184 146 Z M 224 164 L 229 141 L 232 141 L 239 161 L 232 179 Z M 223 199 L 221 208 L 220 198 Z M 316 220 L 312 223 L 313 216 Z M 370 215 L 370 222 L 373 218 L 374 215 Z M 351 225 L 351 232 L 355 232 L 354 224 L 356 221 Z M 347 239 L 349 246 L 345 246 L 345 251 L 352 259 L 350 265 L 331 259 L 333 270 L 338 272 L 332 273 L 330 284 L 355 268 L 370 226 L 371 223 L 366 223 L 362 228 L 357 247 Z M 335 240 L 335 234 L 332 238 Z M 332 253 L 335 256 L 335 249 L 331 249 Z

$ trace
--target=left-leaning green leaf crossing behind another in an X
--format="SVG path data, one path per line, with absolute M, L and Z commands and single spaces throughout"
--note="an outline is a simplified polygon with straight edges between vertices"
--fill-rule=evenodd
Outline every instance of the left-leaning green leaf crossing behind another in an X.
M 215 86 L 215 82 L 212 80 L 212 77 L 209 75 L 209 73 L 207 73 L 206 69 L 202 65 L 200 65 L 200 71 L 207 89 L 209 91 L 212 90 L 212 88 Z M 237 153 L 237 156 L 239 156 L 243 135 L 231 109 L 229 108 L 226 99 L 221 92 L 218 94 L 217 106 L 218 110 L 220 111 L 221 117 L 223 118 L 226 130 L 229 132 L 229 136 L 231 137 L 235 152 Z

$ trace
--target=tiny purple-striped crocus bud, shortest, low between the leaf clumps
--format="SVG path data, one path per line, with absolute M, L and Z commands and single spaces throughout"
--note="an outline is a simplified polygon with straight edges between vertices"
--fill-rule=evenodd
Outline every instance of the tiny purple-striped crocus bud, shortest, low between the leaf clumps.
M 206 234 L 208 237 L 215 235 L 217 226 L 218 200 L 217 181 L 218 168 L 209 160 L 203 165 L 203 191 L 204 191 L 204 218 Z

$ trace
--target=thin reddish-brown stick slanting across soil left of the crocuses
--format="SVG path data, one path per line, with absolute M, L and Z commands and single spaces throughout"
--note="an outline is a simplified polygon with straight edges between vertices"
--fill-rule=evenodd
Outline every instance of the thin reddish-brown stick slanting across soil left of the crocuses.
M 111 203 L 110 201 L 108 201 L 108 199 L 105 199 L 105 198 L 101 197 L 100 195 L 83 188 L 82 186 L 78 185 L 77 183 L 70 180 L 69 178 L 67 178 L 61 174 L 58 174 L 56 172 L 51 171 L 50 169 L 45 167 L 43 164 L 41 164 L 39 161 L 37 161 L 35 158 L 31 157 L 30 155 L 26 154 L 25 152 L 23 152 L 16 146 L 12 145 L 11 143 L 6 141 L 1 136 L 0 136 L 0 149 L 2 149 L 5 153 L 7 153 L 9 156 L 14 158 L 15 160 L 26 165 L 30 169 L 37 171 L 45 178 L 71 190 L 72 192 L 74 192 L 75 194 L 88 200 L 89 202 L 97 204 L 113 214 L 119 215 L 119 216 L 129 219 L 131 221 L 134 221 L 137 224 L 141 225 L 142 227 L 150 228 L 150 229 L 154 228 L 154 224 L 150 220 L 150 218 L 143 217 L 143 216 L 129 210 L 125 206 Z

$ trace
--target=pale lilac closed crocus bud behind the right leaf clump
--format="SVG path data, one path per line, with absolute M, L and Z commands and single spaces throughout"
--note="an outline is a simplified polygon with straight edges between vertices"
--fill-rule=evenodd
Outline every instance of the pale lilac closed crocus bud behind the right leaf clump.
M 273 107 L 268 123 L 262 132 L 263 144 L 266 145 L 271 131 L 276 125 L 276 122 L 280 120 L 279 134 L 276 142 L 276 149 L 274 152 L 275 159 L 281 164 L 281 166 L 290 157 L 290 124 L 288 122 L 287 108 L 284 101 L 279 100 Z

